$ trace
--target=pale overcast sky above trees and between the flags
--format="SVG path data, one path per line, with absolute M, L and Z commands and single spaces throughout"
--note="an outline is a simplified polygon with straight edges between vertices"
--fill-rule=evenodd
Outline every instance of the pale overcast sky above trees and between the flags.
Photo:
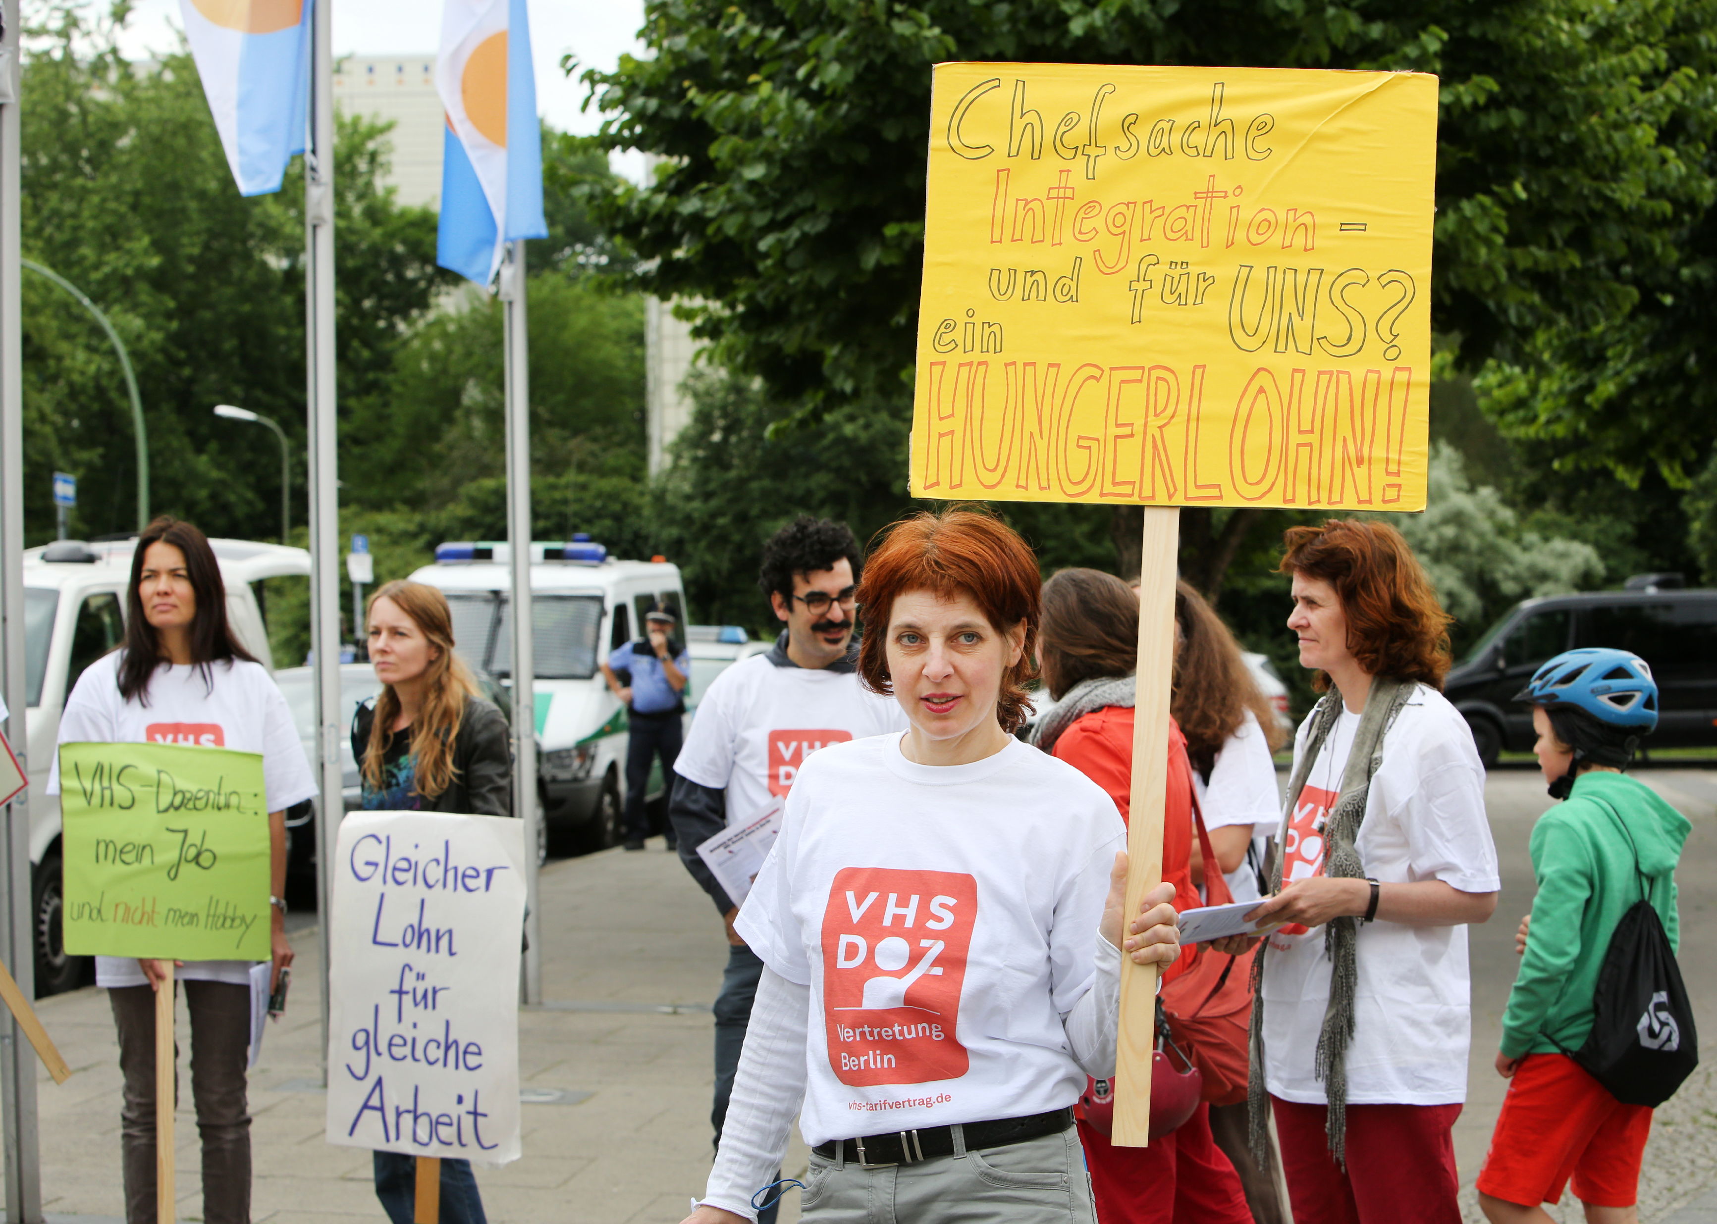
M 531 52 L 536 60 L 537 108 L 563 132 L 594 132 L 601 122 L 580 113 L 584 86 L 560 70 L 572 52 L 584 67 L 611 69 L 627 52 L 639 53 L 644 0 L 531 0 Z M 129 58 L 179 46 L 179 0 L 136 0 L 120 48 Z M 433 0 L 333 0 L 335 55 L 419 55 L 434 52 L 441 5 Z M 632 158 L 616 165 L 635 177 Z M 639 160 L 642 167 L 642 160 Z

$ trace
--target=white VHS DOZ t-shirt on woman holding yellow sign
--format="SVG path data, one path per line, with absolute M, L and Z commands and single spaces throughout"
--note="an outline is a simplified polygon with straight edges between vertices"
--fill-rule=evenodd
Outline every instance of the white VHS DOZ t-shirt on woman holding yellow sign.
M 735 924 L 810 989 L 810 1145 L 1063 1109 L 1085 1087 L 1063 1016 L 1092 989 L 1114 802 L 1016 740 L 943 767 L 900 740 L 807 762 Z

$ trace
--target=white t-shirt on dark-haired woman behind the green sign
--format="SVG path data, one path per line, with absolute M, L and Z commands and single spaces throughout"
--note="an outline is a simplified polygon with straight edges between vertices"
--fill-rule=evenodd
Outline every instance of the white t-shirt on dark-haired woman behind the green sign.
M 292 711 L 261 663 L 161 664 L 144 706 L 118 694 L 120 651 L 91 663 L 60 714 L 60 743 L 187 743 L 263 755 L 268 810 L 282 812 L 316 795 L 316 776 L 292 726 Z M 211 687 L 213 685 L 213 687 Z M 53 757 L 48 793 L 60 793 Z M 251 961 L 185 961 L 177 977 L 247 985 Z M 146 985 L 129 956 L 96 956 L 96 985 Z

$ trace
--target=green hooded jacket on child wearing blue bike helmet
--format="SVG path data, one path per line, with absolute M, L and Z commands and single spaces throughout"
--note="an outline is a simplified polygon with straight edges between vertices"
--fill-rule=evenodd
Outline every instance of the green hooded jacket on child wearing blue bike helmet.
M 1538 817 L 1532 932 L 1502 1013 L 1508 1057 L 1571 1052 L 1587 1040 L 1599 966 L 1621 915 L 1641 896 L 1641 872 L 1669 944 L 1679 948 L 1674 870 L 1691 827 L 1643 783 L 1599 769 L 1580 774 L 1568 800 Z

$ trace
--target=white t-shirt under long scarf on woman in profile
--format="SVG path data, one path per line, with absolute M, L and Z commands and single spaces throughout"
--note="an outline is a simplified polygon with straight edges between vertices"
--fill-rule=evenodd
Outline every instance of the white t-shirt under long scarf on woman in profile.
M 1312 718 L 1300 724 L 1305 752 Z M 1283 815 L 1283 879 L 1324 869 L 1322 827 L 1360 716 L 1343 709 L 1293 812 Z M 1418 685 L 1384 738 L 1355 848 L 1365 874 L 1384 884 L 1441 879 L 1463 893 L 1496 893 L 1497 853 L 1485 819 L 1485 771 L 1466 721 L 1447 699 Z M 1449 1106 L 1466 1100 L 1470 1001 L 1466 927 L 1360 924 L 1358 992 L 1348 1045 L 1348 1104 Z M 1264 961 L 1264 1059 L 1271 1094 L 1324 1104 L 1314 1071 L 1329 1001 L 1324 929 L 1271 936 Z

